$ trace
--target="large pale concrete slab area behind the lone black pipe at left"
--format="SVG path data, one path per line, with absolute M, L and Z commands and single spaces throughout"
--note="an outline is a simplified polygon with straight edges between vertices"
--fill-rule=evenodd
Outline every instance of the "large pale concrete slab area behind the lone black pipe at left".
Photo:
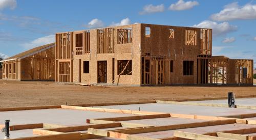
M 131 114 L 105 113 L 73 109 L 39 109 L 0 112 L 0 124 L 10 120 L 10 125 L 49 123 L 57 125 L 90 125 L 86 119 L 134 116 Z

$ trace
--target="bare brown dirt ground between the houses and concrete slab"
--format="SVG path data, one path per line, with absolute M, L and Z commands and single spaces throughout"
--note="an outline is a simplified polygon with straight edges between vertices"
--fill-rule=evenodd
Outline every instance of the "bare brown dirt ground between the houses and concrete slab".
M 42 81 L 0 80 L 0 108 L 191 99 L 256 94 L 256 87 L 120 87 L 76 86 Z

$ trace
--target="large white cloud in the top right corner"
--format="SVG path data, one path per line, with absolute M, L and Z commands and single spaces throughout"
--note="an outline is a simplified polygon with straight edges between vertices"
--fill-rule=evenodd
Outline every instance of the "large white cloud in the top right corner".
M 222 11 L 211 15 L 212 20 L 228 21 L 238 19 L 256 19 L 256 5 L 239 6 L 237 2 L 226 5 Z

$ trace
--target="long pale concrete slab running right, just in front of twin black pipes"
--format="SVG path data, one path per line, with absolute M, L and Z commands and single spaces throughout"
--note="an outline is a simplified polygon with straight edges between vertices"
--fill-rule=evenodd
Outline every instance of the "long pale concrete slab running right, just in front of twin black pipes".
M 110 106 L 98 106 L 98 107 L 114 108 L 114 109 L 130 109 L 130 110 L 138 110 L 140 107 L 141 111 L 156 111 L 156 112 L 162 112 L 162 113 L 190 114 L 190 115 L 196 114 L 196 115 L 205 115 L 205 116 L 229 116 L 229 115 L 256 113 L 256 109 L 164 104 L 164 103 L 110 105 Z

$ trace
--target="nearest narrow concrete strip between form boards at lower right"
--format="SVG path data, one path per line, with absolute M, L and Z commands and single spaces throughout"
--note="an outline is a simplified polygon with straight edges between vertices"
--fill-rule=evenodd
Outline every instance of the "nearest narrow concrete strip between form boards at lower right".
M 255 128 L 256 125 L 245 125 L 245 124 L 227 124 L 227 125 L 216 125 L 216 126 L 206 126 L 206 127 L 197 127 L 197 128 L 187 128 L 187 129 L 177 129 L 177 131 L 184 131 L 190 133 L 208 133 L 215 131 L 228 131 L 228 130 L 237 130 L 237 129 L 245 129 L 245 128 Z M 159 132 L 150 132 L 150 133 L 140 133 L 135 134 L 138 136 L 145 136 L 150 138 L 166 138 L 172 137 L 176 130 L 168 130 L 168 131 L 159 131 Z

